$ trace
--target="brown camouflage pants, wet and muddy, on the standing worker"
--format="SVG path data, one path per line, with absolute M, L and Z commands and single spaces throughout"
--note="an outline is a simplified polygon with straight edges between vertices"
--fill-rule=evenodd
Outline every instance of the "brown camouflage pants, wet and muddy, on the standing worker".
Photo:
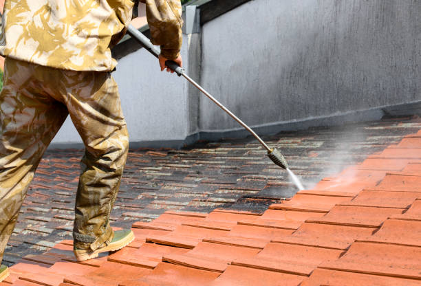
M 70 115 L 86 150 L 74 242 L 95 250 L 114 236 L 109 214 L 129 138 L 109 72 L 74 72 L 6 58 L 0 94 L 0 262 L 41 157 Z

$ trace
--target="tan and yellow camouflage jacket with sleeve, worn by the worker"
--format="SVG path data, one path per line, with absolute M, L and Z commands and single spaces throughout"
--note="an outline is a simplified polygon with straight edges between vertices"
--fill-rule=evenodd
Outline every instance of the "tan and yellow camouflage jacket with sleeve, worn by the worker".
M 182 44 L 180 0 L 146 3 L 152 42 L 174 59 Z M 111 71 L 116 45 L 131 21 L 131 0 L 6 0 L 0 54 L 76 71 Z

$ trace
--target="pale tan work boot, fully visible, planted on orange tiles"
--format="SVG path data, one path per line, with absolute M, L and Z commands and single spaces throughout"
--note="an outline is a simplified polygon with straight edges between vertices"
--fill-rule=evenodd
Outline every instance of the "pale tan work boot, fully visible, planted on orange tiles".
M 114 231 L 114 238 L 110 243 L 104 243 L 104 245 L 100 246 L 100 248 L 94 251 L 90 248 L 86 250 L 80 250 L 75 247 L 73 252 L 76 256 L 77 261 L 85 261 L 88 259 L 94 259 L 98 257 L 98 254 L 100 254 L 101 252 L 120 250 L 121 248 L 124 248 L 126 245 L 131 243 L 133 239 L 134 234 L 131 230 L 116 230 Z

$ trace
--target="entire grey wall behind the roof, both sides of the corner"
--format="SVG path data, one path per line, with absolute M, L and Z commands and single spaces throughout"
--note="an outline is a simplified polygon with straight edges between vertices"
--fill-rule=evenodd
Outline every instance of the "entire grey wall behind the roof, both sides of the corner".
M 259 133 L 378 119 L 378 107 L 421 101 L 421 1 L 252 0 L 185 35 L 182 55 L 188 74 Z M 121 58 L 114 77 L 132 146 L 239 129 L 145 50 Z M 54 146 L 74 142 L 66 122 Z

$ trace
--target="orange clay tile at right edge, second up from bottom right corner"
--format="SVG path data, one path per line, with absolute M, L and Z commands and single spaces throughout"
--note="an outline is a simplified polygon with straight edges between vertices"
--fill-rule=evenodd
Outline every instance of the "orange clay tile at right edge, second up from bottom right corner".
M 355 242 L 341 259 L 322 263 L 329 270 L 421 280 L 421 248 L 383 243 Z

